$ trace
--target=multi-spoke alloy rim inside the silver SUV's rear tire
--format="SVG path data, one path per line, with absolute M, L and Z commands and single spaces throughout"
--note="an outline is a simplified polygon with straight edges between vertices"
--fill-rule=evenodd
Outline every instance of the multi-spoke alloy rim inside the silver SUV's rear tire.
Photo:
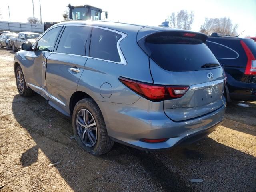
M 76 127 L 81 141 L 88 147 L 97 141 L 97 125 L 87 109 L 81 109 L 76 116 Z

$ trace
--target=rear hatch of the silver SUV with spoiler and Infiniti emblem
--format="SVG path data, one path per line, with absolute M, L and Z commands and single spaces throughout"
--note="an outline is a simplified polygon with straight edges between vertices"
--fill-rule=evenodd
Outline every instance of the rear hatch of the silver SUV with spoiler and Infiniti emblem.
M 174 121 L 196 118 L 224 105 L 224 72 L 206 38 L 201 33 L 170 30 L 138 41 L 150 57 L 153 84 L 170 87 L 164 111 Z

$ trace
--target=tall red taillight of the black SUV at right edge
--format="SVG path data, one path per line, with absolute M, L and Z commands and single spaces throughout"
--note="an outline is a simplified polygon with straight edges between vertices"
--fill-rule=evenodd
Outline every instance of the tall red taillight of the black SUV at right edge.
M 245 68 L 244 74 L 246 75 L 256 75 L 256 59 L 254 55 L 252 54 L 251 50 L 248 48 L 248 46 L 243 42 L 242 40 L 240 41 L 242 47 L 244 48 L 244 51 L 247 56 L 247 64 Z

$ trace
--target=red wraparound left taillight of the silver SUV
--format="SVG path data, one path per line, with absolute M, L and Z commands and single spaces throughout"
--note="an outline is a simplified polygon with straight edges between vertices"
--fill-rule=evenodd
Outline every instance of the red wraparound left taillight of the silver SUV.
M 140 96 L 155 102 L 182 97 L 189 86 L 164 86 L 138 82 L 120 77 L 119 80 Z

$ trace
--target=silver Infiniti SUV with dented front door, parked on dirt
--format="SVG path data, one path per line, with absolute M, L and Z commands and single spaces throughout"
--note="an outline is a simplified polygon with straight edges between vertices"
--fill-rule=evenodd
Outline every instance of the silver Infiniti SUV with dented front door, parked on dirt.
M 58 23 L 15 54 L 18 92 L 72 117 L 94 155 L 114 141 L 144 150 L 194 142 L 223 120 L 225 74 L 207 36 L 162 26 Z

